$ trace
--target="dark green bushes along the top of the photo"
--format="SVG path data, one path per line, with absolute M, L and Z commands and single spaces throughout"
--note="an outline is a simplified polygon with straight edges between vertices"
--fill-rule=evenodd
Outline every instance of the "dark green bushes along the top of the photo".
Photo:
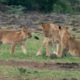
M 80 0 L 0 0 L 1 4 L 24 6 L 25 11 L 79 13 Z

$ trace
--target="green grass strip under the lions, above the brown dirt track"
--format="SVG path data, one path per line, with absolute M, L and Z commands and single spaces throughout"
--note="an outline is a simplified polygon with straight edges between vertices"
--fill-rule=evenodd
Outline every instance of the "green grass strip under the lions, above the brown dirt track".
M 36 34 L 38 35 L 38 34 Z M 36 53 L 38 49 L 40 48 L 42 44 L 43 37 L 41 35 L 38 35 L 40 37 L 40 40 L 35 40 L 34 37 L 31 39 L 28 39 L 26 41 L 26 47 L 27 47 L 27 53 L 23 54 L 21 51 L 21 48 L 19 45 L 16 46 L 16 50 L 13 55 L 10 54 L 10 45 L 8 44 L 3 44 L 0 49 L 0 59 L 2 60 L 30 60 L 30 61 L 38 61 L 38 62 L 76 62 L 80 63 L 80 58 L 79 57 L 72 57 L 68 53 L 64 55 L 61 58 L 54 57 L 51 55 L 50 57 L 45 56 L 45 48 L 42 50 L 42 56 L 36 56 Z M 50 47 L 51 52 L 52 48 Z M 54 49 L 55 50 L 55 49 Z

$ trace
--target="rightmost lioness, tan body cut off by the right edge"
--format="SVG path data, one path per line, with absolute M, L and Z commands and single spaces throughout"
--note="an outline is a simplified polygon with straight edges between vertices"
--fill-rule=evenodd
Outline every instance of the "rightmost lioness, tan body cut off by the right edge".
M 59 51 L 58 55 L 62 56 L 63 50 L 68 49 L 72 56 L 80 56 L 80 41 L 73 38 L 67 28 L 59 26 Z

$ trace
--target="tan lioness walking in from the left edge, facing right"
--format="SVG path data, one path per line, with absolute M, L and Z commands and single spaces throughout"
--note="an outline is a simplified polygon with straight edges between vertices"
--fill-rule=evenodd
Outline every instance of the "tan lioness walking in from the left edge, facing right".
M 23 53 L 26 53 L 24 41 L 31 37 L 31 33 L 25 26 L 21 26 L 21 30 L 4 30 L 0 29 L 0 43 L 8 43 L 11 45 L 11 52 L 14 53 L 15 46 L 21 45 Z

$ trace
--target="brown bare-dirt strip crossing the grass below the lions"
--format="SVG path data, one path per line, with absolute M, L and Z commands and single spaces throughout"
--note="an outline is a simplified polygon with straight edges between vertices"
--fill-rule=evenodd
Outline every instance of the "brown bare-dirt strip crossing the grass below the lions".
M 60 69 L 60 70 L 80 70 L 80 63 L 55 63 L 55 62 L 35 62 L 35 61 L 15 61 L 15 60 L 0 60 L 0 65 L 20 66 L 37 69 Z

